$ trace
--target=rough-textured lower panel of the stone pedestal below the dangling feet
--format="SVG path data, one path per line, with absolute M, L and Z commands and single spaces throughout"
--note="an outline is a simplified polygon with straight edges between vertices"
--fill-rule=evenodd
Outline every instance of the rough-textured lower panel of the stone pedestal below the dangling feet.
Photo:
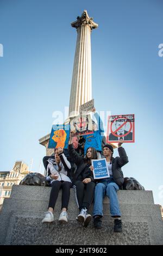
M 103 222 L 96 230 L 93 223 L 87 228 L 76 221 L 68 224 L 41 223 L 39 218 L 17 216 L 9 230 L 6 245 L 150 245 L 147 222 L 123 222 L 123 233 L 114 233 L 113 222 Z

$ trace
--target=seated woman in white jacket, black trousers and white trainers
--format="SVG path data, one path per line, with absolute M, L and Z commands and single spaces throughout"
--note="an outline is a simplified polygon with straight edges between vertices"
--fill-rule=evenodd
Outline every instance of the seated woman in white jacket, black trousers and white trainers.
M 67 223 L 67 208 L 70 199 L 70 188 L 72 187 L 72 181 L 68 177 L 71 173 L 71 163 L 67 160 L 62 148 L 59 147 L 54 151 L 55 159 L 54 157 L 48 157 L 47 160 L 43 159 L 44 164 L 45 161 L 48 163 L 48 176 L 46 179 L 51 182 L 52 190 L 49 198 L 48 211 L 45 212 L 42 223 L 54 221 L 53 211 L 60 188 L 62 188 L 62 206 L 59 222 Z

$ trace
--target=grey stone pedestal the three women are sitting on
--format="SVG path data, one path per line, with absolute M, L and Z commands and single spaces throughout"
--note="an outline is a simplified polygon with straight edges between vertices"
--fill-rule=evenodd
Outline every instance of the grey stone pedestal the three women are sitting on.
M 92 222 L 87 228 L 78 224 L 73 188 L 68 205 L 68 224 L 58 222 L 61 191 L 55 206 L 54 222 L 42 224 L 50 191 L 51 187 L 12 186 L 11 197 L 4 200 L 0 215 L 1 245 L 163 245 L 160 206 L 154 204 L 152 191 L 118 191 L 123 233 L 113 232 L 114 223 L 106 197 L 103 229 L 96 230 Z

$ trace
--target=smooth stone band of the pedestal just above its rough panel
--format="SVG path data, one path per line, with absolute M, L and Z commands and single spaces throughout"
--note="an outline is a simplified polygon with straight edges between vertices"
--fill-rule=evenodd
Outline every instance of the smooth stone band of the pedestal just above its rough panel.
M 58 198 L 59 199 L 59 198 Z M 2 209 L 2 214 L 5 212 L 16 211 L 16 212 L 40 212 L 40 217 L 43 217 L 43 212 L 47 211 L 48 200 L 26 200 L 24 199 L 7 199 L 4 200 L 4 205 Z M 103 204 L 103 212 L 104 215 L 110 216 L 109 211 L 110 204 Z M 93 204 L 89 210 L 90 214 L 92 214 Z M 147 205 L 147 204 L 120 204 L 120 209 L 122 212 L 122 216 L 150 216 L 154 215 L 155 217 L 160 217 L 160 206 L 159 205 Z M 61 211 L 61 201 L 55 205 L 54 217 L 57 220 Z M 55 212 L 57 214 L 55 215 Z M 79 214 L 78 206 L 74 200 L 71 200 L 68 205 L 68 214 L 70 215 L 70 219 L 74 220 L 76 216 Z M 34 217 L 34 216 L 33 216 Z

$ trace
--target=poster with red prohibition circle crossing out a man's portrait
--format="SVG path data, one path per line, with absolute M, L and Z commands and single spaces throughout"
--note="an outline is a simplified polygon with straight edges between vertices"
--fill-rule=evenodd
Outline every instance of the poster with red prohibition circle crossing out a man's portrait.
M 135 115 L 109 115 L 106 143 L 135 142 Z

